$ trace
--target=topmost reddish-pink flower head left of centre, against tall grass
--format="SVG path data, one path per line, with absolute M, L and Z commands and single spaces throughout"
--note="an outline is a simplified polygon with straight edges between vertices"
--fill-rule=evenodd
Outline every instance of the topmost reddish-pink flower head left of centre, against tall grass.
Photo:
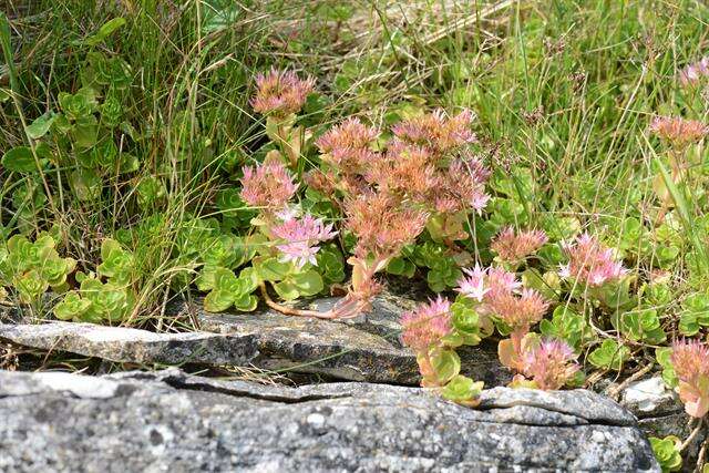
M 298 113 L 315 86 L 315 79 L 300 80 L 292 71 L 271 69 L 256 76 L 257 91 L 251 106 L 258 113 L 279 117 Z

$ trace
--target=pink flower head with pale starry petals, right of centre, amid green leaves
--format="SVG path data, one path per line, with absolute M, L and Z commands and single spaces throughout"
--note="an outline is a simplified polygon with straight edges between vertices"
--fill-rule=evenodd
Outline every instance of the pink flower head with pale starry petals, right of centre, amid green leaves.
M 615 261 L 613 249 L 605 247 L 588 233 L 580 235 L 573 245 L 564 245 L 568 263 L 559 276 L 574 278 L 592 287 L 619 279 L 626 274 L 623 264 Z

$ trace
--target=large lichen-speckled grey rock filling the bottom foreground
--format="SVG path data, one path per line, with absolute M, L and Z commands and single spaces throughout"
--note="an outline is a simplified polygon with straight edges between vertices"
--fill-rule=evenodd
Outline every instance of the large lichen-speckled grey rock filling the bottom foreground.
M 587 391 L 469 409 L 382 384 L 0 371 L 0 419 L 3 472 L 659 471 L 635 418 Z

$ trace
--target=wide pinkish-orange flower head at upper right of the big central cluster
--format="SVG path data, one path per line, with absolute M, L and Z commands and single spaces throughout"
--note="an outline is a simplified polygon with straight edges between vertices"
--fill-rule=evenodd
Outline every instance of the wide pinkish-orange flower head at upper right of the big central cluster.
M 475 134 L 470 130 L 474 117 L 470 110 L 446 117 L 445 112 L 439 109 L 405 120 L 394 125 L 392 132 L 405 143 L 427 146 L 434 153 L 446 153 L 475 142 Z

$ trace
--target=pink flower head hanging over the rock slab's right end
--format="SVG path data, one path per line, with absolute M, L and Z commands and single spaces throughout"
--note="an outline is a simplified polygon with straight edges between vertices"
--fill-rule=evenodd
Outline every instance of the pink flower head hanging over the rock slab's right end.
M 439 296 L 401 316 L 401 341 L 417 351 L 423 351 L 451 333 L 451 302 Z

